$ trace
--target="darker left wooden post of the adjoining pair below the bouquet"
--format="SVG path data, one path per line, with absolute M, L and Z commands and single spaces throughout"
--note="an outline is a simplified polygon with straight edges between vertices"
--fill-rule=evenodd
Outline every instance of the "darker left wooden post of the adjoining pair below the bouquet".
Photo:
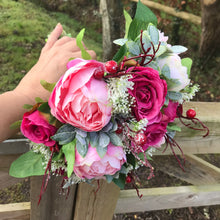
M 38 205 L 42 177 L 31 177 L 31 220 L 72 220 L 76 185 L 62 192 L 62 177 L 52 176 Z

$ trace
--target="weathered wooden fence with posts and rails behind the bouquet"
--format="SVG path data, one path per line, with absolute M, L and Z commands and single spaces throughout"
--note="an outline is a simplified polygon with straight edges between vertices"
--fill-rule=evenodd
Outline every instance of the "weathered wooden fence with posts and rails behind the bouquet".
M 119 191 L 114 184 L 102 181 L 101 190 L 94 194 L 97 186 L 93 187 L 84 183 L 72 188 L 72 193 L 70 192 L 67 201 L 65 197 L 59 197 L 59 195 L 55 201 L 56 199 L 53 197 L 55 185 L 59 184 L 59 181 L 55 179 L 51 181 L 51 186 L 48 187 L 42 203 L 38 207 L 36 203 L 41 177 L 35 177 L 31 181 L 31 203 L 0 205 L 0 219 L 30 219 L 30 216 L 31 220 L 60 219 L 56 216 L 59 214 L 62 216 L 63 210 L 65 210 L 65 213 L 70 213 L 66 219 L 101 220 L 112 219 L 113 213 L 220 204 L 220 168 L 196 156 L 196 154 L 220 153 L 220 103 L 189 102 L 184 104 L 184 108 L 196 110 L 197 116 L 209 127 L 209 136 L 203 138 L 201 132 L 198 133 L 184 127 L 181 135 L 176 136 L 175 140 L 183 149 L 187 159 L 186 172 L 182 172 L 177 163 L 173 165 L 169 160 L 164 162 L 166 156 L 171 153 L 169 150 L 164 154 L 160 151 L 157 152 L 154 160 L 158 169 L 192 185 L 140 189 L 143 197 L 139 199 L 134 189 Z M 28 145 L 25 139 L 8 140 L 1 144 L 0 188 L 8 187 L 18 181 L 9 177 L 7 172 L 10 163 L 27 150 Z M 157 160 L 157 157 L 160 159 Z M 54 215 L 53 218 L 52 215 Z

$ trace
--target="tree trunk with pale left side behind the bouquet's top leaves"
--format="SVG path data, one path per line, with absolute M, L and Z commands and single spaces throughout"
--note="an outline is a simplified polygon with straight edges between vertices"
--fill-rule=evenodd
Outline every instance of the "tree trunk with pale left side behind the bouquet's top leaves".
M 117 46 L 113 44 L 113 40 L 120 38 L 124 30 L 121 1 L 100 0 L 100 13 L 102 15 L 103 60 L 106 61 L 111 60 L 116 53 Z

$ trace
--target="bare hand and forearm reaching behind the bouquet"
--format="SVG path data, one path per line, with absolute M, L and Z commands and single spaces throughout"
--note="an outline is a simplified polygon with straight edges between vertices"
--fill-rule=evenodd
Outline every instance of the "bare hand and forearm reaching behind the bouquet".
M 24 104 L 35 104 L 35 98 L 40 97 L 48 100 L 50 93 L 45 90 L 41 80 L 54 83 L 67 70 L 66 64 L 70 58 L 81 57 L 81 51 L 76 45 L 76 39 L 62 37 L 63 28 L 57 24 L 50 37 L 41 50 L 38 62 L 24 76 L 17 87 L 0 95 L 0 142 L 6 140 L 17 130 L 10 128 L 15 121 L 21 120 L 23 114 L 27 111 L 23 108 Z M 88 50 L 92 59 L 96 58 L 94 51 Z

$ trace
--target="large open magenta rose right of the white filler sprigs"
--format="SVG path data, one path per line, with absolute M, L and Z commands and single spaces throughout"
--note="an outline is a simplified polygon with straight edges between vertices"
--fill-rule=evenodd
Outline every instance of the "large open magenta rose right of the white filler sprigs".
M 134 86 L 129 93 L 136 100 L 134 115 L 138 121 L 147 118 L 153 123 L 165 102 L 166 81 L 160 79 L 159 73 L 150 67 L 136 67 L 133 72 L 136 74 L 130 80 L 134 82 Z

